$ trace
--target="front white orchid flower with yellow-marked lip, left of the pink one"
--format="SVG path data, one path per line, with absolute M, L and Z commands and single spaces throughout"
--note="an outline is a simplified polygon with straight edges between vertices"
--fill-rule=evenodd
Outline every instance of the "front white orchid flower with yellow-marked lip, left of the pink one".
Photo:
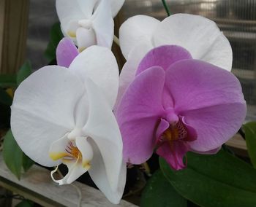
M 59 184 L 70 184 L 89 171 L 112 203 L 124 192 L 126 165 L 122 140 L 112 108 L 118 87 L 113 53 L 92 46 L 69 68 L 45 66 L 25 79 L 15 92 L 11 127 L 18 145 L 32 160 L 68 173 Z

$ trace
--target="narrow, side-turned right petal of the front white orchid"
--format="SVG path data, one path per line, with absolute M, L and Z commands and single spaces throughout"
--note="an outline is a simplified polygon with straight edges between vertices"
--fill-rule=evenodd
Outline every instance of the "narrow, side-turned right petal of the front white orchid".
M 122 163 L 121 133 L 116 118 L 99 87 L 87 79 L 86 89 L 89 99 L 89 118 L 83 131 L 99 147 L 110 187 L 114 190 L 118 185 L 116 178 L 118 178 Z

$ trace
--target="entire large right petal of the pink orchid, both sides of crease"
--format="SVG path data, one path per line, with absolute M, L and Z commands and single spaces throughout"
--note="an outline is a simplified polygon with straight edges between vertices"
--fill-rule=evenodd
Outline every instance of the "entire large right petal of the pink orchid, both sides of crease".
M 182 60 L 167 69 L 166 85 L 175 111 L 197 132 L 192 150 L 216 149 L 241 127 L 246 102 L 238 79 L 200 60 Z

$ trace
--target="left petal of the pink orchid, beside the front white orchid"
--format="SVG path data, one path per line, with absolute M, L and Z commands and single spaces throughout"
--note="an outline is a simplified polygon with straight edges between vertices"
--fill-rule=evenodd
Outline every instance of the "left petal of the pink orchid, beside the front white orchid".
M 116 111 L 124 143 L 124 160 L 140 164 L 151 157 L 157 122 L 162 116 L 165 71 L 153 67 L 143 71 L 129 85 Z

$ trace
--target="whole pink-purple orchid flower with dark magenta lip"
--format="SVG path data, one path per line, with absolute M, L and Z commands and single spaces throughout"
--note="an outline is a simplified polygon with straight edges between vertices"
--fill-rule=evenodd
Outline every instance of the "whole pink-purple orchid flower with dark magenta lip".
M 216 153 L 245 116 L 238 79 L 174 45 L 148 52 L 116 110 L 126 162 L 156 150 L 176 170 L 188 151 Z

